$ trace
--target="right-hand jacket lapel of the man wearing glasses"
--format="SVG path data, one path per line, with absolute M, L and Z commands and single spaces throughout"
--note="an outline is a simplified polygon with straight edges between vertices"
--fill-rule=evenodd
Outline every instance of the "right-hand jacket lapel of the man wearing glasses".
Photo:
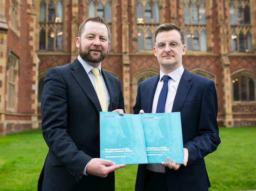
M 186 97 L 190 91 L 191 85 L 191 73 L 184 69 L 174 98 L 172 112 L 180 112 L 183 103 L 186 100 Z

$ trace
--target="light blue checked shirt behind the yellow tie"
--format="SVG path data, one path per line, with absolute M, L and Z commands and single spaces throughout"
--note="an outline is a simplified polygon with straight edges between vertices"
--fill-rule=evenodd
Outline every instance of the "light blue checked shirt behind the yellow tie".
M 96 91 L 96 88 L 95 88 L 95 77 L 94 77 L 94 74 L 91 72 L 91 70 L 94 68 L 92 65 L 86 63 L 86 61 L 84 61 L 80 55 L 78 55 L 77 59 L 79 60 L 79 62 L 82 64 L 82 66 L 84 67 L 84 70 L 86 71 L 88 77 L 90 78 L 91 82 L 92 82 L 92 85 Z M 101 63 L 100 65 L 97 67 L 99 70 L 100 70 L 100 78 L 102 80 L 102 84 L 103 84 L 103 88 L 104 88 L 104 92 L 105 92 L 105 95 L 106 95 L 106 100 L 107 100 L 107 106 L 109 106 L 109 103 L 110 103 L 110 96 L 109 96 L 109 93 L 108 93 L 108 89 L 106 87 L 106 83 L 104 81 L 104 78 L 103 76 L 101 75 Z

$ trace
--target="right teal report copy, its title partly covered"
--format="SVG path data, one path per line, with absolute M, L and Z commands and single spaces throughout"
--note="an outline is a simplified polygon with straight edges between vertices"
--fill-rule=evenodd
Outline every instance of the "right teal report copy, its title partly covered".
M 180 112 L 140 114 L 146 140 L 148 163 L 170 161 L 183 163 Z

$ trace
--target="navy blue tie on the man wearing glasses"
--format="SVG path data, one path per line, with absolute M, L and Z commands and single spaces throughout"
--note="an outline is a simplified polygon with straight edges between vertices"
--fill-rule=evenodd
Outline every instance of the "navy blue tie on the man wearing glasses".
M 162 77 L 162 80 L 164 81 L 164 85 L 162 87 L 162 90 L 161 90 L 159 98 L 158 98 L 156 113 L 164 113 L 166 98 L 167 98 L 167 94 L 168 94 L 168 81 L 170 78 L 171 77 L 168 75 L 164 75 Z

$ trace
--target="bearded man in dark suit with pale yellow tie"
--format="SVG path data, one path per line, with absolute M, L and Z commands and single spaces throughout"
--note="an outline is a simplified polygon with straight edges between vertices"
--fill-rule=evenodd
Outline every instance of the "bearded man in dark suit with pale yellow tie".
M 49 152 L 38 190 L 114 191 L 114 170 L 125 165 L 99 158 L 99 112 L 124 112 L 120 81 L 101 69 L 109 35 L 103 18 L 85 20 L 76 37 L 78 57 L 46 74 L 42 131 Z

